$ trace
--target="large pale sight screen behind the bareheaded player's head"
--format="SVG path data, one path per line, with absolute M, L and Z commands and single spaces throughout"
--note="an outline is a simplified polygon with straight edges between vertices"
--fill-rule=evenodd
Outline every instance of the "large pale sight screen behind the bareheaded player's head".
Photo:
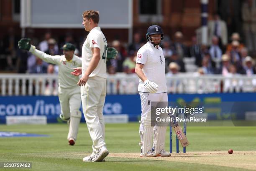
M 101 27 L 130 28 L 132 0 L 31 0 L 21 5 L 25 27 L 83 27 L 85 10 L 100 12 Z M 30 7 L 30 9 L 29 9 Z

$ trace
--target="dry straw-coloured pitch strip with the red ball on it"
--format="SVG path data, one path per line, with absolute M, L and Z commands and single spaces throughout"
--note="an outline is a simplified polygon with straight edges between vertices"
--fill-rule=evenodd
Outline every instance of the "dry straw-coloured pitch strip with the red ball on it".
M 109 157 L 141 158 L 139 154 L 135 153 L 110 153 Z M 256 170 L 256 151 L 234 151 L 233 154 L 228 154 L 228 151 L 194 151 L 185 154 L 173 153 L 171 157 L 148 157 L 146 159 Z M 106 161 L 108 161 L 108 158 L 106 158 Z

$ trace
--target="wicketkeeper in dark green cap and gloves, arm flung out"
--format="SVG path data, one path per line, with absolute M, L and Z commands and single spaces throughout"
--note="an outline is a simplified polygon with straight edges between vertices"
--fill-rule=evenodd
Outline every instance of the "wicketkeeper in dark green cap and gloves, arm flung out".
M 77 139 L 78 127 L 82 113 L 79 111 L 81 105 L 80 87 L 77 86 L 78 77 L 70 73 L 74 67 L 81 67 L 81 58 L 74 55 L 75 47 L 71 43 L 65 44 L 63 49 L 64 55 L 47 55 L 37 50 L 35 46 L 30 44 L 30 39 L 21 39 L 18 42 L 20 49 L 28 50 L 36 57 L 41 58 L 45 62 L 56 64 L 59 66 L 59 87 L 58 95 L 61 106 L 60 118 L 69 123 L 69 133 L 67 139 L 69 145 L 74 145 Z

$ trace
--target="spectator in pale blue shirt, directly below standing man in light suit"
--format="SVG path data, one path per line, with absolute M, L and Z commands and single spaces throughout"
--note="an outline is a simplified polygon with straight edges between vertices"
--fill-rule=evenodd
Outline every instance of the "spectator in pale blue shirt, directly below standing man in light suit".
M 222 51 L 219 47 L 218 37 L 216 36 L 212 37 L 212 45 L 210 46 L 209 53 L 211 60 L 215 63 L 215 69 L 220 69 Z

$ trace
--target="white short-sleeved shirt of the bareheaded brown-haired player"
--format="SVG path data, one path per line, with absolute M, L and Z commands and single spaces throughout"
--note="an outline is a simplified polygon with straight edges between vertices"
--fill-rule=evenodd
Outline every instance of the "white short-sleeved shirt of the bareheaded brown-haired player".
M 87 35 L 82 47 L 82 75 L 92 60 L 92 47 L 98 47 L 100 48 L 100 61 L 89 77 L 107 78 L 107 46 L 107 40 L 100 27 L 94 27 Z

